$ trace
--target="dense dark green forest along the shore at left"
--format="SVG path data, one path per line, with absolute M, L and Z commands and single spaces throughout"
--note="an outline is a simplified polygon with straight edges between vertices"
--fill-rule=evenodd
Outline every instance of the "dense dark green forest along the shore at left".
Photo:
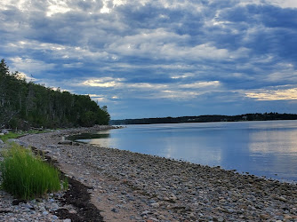
M 11 73 L 1 60 L 0 129 L 92 126 L 108 124 L 109 120 L 107 107 L 100 107 L 88 95 L 27 82 L 19 72 Z

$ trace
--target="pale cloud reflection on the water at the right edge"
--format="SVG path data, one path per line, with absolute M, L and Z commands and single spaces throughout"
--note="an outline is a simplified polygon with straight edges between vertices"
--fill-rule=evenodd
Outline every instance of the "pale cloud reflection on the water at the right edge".
M 253 170 L 261 168 L 272 178 L 297 178 L 297 131 L 258 131 L 251 134 L 249 149 Z

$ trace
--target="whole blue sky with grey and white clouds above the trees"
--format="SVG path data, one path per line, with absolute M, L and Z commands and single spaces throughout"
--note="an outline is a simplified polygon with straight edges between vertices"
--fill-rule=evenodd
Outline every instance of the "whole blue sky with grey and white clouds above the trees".
M 111 119 L 297 113 L 296 0 L 2 0 L 0 59 Z

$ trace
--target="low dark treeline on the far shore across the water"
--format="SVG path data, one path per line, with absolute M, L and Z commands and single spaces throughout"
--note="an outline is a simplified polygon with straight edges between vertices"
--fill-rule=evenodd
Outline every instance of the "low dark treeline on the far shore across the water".
M 210 123 L 210 122 L 239 122 L 239 121 L 269 121 L 269 120 L 297 120 L 296 114 L 256 113 L 245 115 L 197 115 L 181 117 L 161 117 L 143 119 L 111 120 L 113 125 L 126 124 L 156 124 L 156 123 Z

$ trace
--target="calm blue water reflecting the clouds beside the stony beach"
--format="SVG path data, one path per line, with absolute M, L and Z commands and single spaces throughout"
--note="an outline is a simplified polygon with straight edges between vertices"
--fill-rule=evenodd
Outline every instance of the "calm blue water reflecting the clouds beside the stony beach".
M 128 125 L 96 138 L 79 140 L 297 181 L 297 121 Z

